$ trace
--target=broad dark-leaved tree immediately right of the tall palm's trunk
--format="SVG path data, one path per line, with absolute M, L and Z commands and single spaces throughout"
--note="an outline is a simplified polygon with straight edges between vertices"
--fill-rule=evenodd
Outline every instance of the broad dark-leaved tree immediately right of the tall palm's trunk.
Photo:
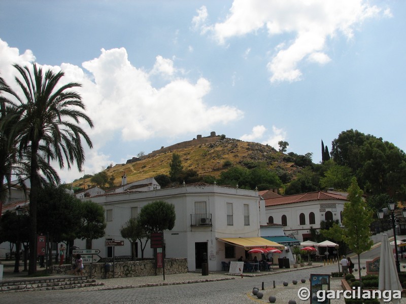
M 81 201 L 63 185 L 48 185 L 38 193 L 38 234 L 47 235 L 49 261 L 52 265 L 51 244 L 74 238 L 80 227 Z

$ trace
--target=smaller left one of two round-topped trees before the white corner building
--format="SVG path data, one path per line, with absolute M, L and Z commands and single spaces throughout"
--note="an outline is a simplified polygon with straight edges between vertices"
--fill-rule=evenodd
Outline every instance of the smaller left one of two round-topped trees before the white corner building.
M 144 230 L 137 218 L 130 218 L 123 226 L 121 226 L 120 234 L 123 238 L 131 243 L 132 260 L 136 259 L 136 242 L 140 241 L 141 258 L 144 258 L 144 250 L 150 239 L 150 236 Z

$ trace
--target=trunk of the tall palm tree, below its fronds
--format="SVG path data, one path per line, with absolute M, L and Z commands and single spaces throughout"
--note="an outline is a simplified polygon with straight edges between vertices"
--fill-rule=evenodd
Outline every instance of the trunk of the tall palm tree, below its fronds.
M 31 145 L 31 170 L 30 182 L 31 189 L 29 193 L 29 264 L 28 275 L 37 272 L 37 202 L 38 191 L 41 187 L 40 178 L 38 176 L 38 162 L 37 162 L 38 144 L 32 142 Z

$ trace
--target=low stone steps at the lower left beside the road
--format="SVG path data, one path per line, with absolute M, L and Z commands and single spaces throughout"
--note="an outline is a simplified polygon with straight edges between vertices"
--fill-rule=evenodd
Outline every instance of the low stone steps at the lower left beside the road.
M 0 282 L 0 292 L 8 291 L 29 291 L 29 290 L 57 290 L 100 286 L 104 283 L 97 283 L 94 279 L 81 277 L 68 278 L 47 278 L 33 280 L 14 280 Z

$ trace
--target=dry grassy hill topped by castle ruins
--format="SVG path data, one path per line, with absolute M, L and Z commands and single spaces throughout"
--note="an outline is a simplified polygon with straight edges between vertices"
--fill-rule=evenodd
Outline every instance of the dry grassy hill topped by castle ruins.
M 208 138 L 212 138 L 208 140 Z M 171 148 L 172 147 L 172 148 Z M 121 184 L 121 177 L 125 173 L 127 182 L 141 180 L 147 177 L 154 177 L 159 174 L 169 174 L 169 164 L 172 154 L 180 155 L 184 169 L 193 169 L 199 176 L 211 175 L 216 178 L 220 173 L 227 170 L 228 165 L 247 165 L 250 162 L 266 162 L 270 170 L 282 169 L 284 171 L 296 171 L 293 163 L 285 162 L 283 153 L 269 145 L 255 142 L 247 142 L 238 139 L 203 137 L 200 141 L 194 140 L 188 144 L 178 143 L 170 147 L 155 150 L 152 153 L 134 161 L 134 158 L 127 161 L 127 164 L 117 164 L 106 169 L 108 175 L 114 176 L 114 184 Z M 74 181 L 74 187 L 90 185 L 90 178 Z

